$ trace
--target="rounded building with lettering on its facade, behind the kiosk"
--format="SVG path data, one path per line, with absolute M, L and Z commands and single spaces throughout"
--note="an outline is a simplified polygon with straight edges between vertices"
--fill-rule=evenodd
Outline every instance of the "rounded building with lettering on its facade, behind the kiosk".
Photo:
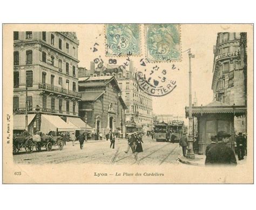
M 215 100 L 231 106 L 246 106 L 246 81 L 246 33 L 218 33 L 212 80 Z M 246 132 L 246 115 L 234 118 L 234 132 Z

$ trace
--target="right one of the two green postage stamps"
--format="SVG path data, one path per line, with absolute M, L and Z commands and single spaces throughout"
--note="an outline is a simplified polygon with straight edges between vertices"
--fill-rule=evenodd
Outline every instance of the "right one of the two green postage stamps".
M 149 61 L 181 59 L 179 24 L 145 24 L 146 56 Z

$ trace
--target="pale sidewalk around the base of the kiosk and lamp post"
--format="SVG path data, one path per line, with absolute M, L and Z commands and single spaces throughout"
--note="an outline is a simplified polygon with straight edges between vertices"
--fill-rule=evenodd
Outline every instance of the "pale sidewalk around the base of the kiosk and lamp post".
M 237 165 L 242 165 L 246 163 L 246 156 L 244 157 L 243 160 L 238 160 L 237 155 L 235 155 L 235 158 L 237 158 Z M 206 156 L 205 155 L 194 155 L 194 159 L 190 159 L 190 158 L 186 158 L 183 155 L 181 155 L 178 158 L 178 161 L 180 163 L 184 163 L 184 164 L 189 164 L 189 165 L 196 165 L 196 166 L 205 166 L 205 159 Z

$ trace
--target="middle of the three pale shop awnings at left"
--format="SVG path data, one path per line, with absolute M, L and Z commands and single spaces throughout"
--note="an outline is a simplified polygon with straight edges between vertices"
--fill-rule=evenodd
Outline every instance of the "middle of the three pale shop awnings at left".
M 48 134 L 49 131 L 75 131 L 74 125 L 66 123 L 57 115 L 41 115 L 41 131 Z

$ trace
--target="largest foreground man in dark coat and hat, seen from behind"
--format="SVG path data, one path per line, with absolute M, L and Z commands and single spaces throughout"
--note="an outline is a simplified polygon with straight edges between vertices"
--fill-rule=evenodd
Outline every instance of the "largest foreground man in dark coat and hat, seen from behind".
M 230 164 L 237 165 L 234 151 L 226 145 L 224 138 L 230 137 L 225 131 L 219 131 L 217 134 L 218 144 L 212 146 L 206 154 L 205 165 Z

